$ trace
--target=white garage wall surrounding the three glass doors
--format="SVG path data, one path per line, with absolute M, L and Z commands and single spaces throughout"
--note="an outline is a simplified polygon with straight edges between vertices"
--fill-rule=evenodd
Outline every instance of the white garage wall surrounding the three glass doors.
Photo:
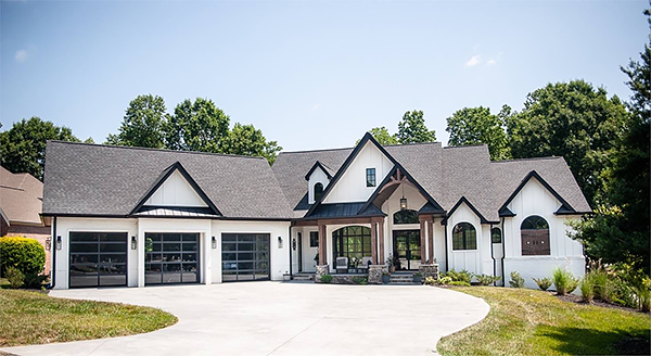
M 229 221 L 204 219 L 162 219 L 162 218 L 64 218 L 56 220 L 55 236 L 62 238 L 62 249 L 55 250 L 55 289 L 67 289 L 69 268 L 69 232 L 127 232 L 127 285 L 144 287 L 144 234 L 146 232 L 192 232 L 200 233 L 200 282 L 205 284 L 221 282 L 221 233 L 269 233 L 271 280 L 282 280 L 290 270 L 291 241 L 289 221 Z M 53 227 L 54 228 L 54 227 Z M 131 250 L 131 237 L 137 238 L 137 250 Z M 212 247 L 212 238 L 217 240 Z M 283 243 L 279 247 L 278 238 Z M 309 245 L 309 242 L 308 242 Z M 55 245 L 54 245 L 55 246 Z M 312 257 L 314 258 L 314 257 Z

